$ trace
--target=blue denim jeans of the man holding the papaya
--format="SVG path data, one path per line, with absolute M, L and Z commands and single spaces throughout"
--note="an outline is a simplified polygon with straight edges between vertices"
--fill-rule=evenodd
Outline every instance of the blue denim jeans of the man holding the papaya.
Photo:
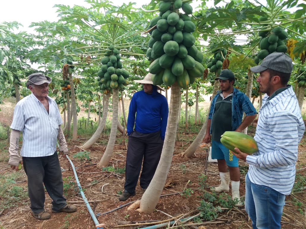
M 252 183 L 247 173 L 244 204 L 253 229 L 281 229 L 285 197 L 270 187 Z

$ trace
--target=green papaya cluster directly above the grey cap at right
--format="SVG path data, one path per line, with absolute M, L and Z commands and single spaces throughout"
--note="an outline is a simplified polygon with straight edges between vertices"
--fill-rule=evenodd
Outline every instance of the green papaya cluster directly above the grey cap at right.
M 261 17 L 260 20 L 266 21 L 266 17 Z M 286 53 L 287 46 L 284 40 L 287 40 L 288 33 L 280 26 L 274 27 L 272 31 L 259 31 L 259 52 L 254 61 L 255 64 L 260 64 L 261 61 L 271 53 Z M 289 56 L 289 54 L 287 54 Z

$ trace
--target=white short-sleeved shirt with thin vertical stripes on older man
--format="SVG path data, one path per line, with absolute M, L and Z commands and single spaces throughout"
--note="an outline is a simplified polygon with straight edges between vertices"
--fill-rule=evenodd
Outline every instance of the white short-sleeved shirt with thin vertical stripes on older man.
M 43 104 L 32 94 L 20 100 L 14 108 L 11 129 L 22 131 L 23 157 L 43 157 L 56 150 L 58 126 L 62 118 L 56 102 L 47 97 L 49 114 Z

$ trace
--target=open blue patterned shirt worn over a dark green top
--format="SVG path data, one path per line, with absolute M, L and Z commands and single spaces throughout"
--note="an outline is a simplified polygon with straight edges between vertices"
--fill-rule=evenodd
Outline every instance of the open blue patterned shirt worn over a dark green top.
M 222 90 L 219 90 L 214 96 L 211 102 L 211 109 L 208 115 L 209 119 L 212 119 L 213 114 L 215 113 L 215 103 L 217 98 L 222 93 Z M 232 131 L 236 130 L 242 122 L 243 112 L 246 115 L 255 115 L 257 111 L 253 104 L 251 103 L 248 96 L 239 91 L 237 88 L 233 88 L 233 99 L 232 99 Z M 212 133 L 212 125 L 210 128 L 210 133 Z

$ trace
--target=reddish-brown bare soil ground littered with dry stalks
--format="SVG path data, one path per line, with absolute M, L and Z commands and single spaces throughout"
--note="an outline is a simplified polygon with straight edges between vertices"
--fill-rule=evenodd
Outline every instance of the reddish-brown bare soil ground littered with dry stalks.
M 81 187 L 98 222 L 100 224 L 105 224 L 103 228 L 142 228 L 154 224 L 161 224 L 161 222 L 147 225 L 140 224 L 141 222 L 169 220 L 171 217 L 178 215 L 185 218 L 198 213 L 197 208 L 201 200 L 199 197 L 200 191 L 196 190 L 196 188 L 199 188 L 198 176 L 201 173 L 206 173 L 206 184 L 208 187 L 205 190 L 207 192 L 210 192 L 209 187 L 217 186 L 220 183 L 220 178 L 218 176 L 216 163 L 208 163 L 205 171 L 205 161 L 207 157 L 206 149 L 209 145 L 200 145 L 192 158 L 180 156 L 180 153 L 185 151 L 191 144 L 191 142 L 182 139 L 192 139 L 196 134 L 197 133 L 186 132 L 184 133 L 184 138 L 176 141 L 172 164 L 166 181 L 167 185 L 162 191 L 162 196 L 159 199 L 156 210 L 149 214 L 139 213 L 136 210 L 128 210 L 132 202 L 140 199 L 143 194 L 139 183 L 136 187 L 136 195 L 130 197 L 126 201 L 120 202 L 117 192 L 123 190 L 125 174 L 102 171 L 102 169 L 96 166 L 96 163 L 100 161 L 103 155 L 106 145 L 95 144 L 88 150 L 90 151 L 90 160 L 81 161 L 80 159 L 73 158 L 73 155 L 76 152 L 83 151 L 79 146 L 82 145 L 86 139 L 79 138 L 69 141 L 69 157 L 73 161 Z M 104 138 L 107 139 L 107 137 Z M 297 173 L 302 176 L 306 174 L 305 138 L 304 136 L 302 140 L 303 144 L 299 146 L 297 162 Z M 7 152 L 7 148 L 3 149 L 2 152 Z M 118 142 L 115 145 L 110 165 L 114 166 L 114 168 L 124 168 L 125 156 L 126 145 Z M 242 161 L 239 163 L 241 168 L 240 195 L 243 197 L 245 193 L 244 175 L 247 171 L 247 164 Z M 5 209 L 2 214 L 0 213 L 0 222 L 2 223 L 0 228 L 95 228 L 95 223 L 91 219 L 88 209 L 78 192 L 78 188 L 75 184 L 76 180 L 69 161 L 66 158 L 60 158 L 60 164 L 63 170 L 64 188 L 68 188 L 65 190 L 65 196 L 70 204 L 77 205 L 77 212 L 69 214 L 63 212 L 51 213 L 51 199 L 46 193 L 45 209 L 51 214 L 49 220 L 40 221 L 33 218 L 29 209 L 29 199 L 25 199 L 24 202 L 19 203 L 17 207 Z M 0 168 L 0 174 L 2 175 L 5 173 L 14 173 L 14 171 L 9 168 L 7 162 L 2 162 Z M 24 170 L 22 169 L 19 173 L 24 173 Z M 22 187 L 24 191 L 27 191 L 27 179 L 25 174 L 17 182 L 18 186 Z M 194 190 L 193 194 L 188 198 L 180 194 L 180 192 L 186 188 Z M 229 194 L 231 194 L 231 190 Z M 301 203 L 302 212 L 305 213 L 306 191 L 304 190 L 288 195 L 286 197 L 286 205 L 284 206 L 282 216 L 283 229 L 306 228 L 305 216 L 300 213 L 298 207 L 294 204 L 296 202 L 294 197 Z M 0 199 L 0 201 L 3 200 Z M 155 228 L 165 228 L 165 226 Z M 218 213 L 216 219 L 203 221 L 203 224 L 185 224 L 184 226 L 175 226 L 173 228 L 234 229 L 252 228 L 252 226 L 244 206 L 241 206 L 239 208 L 223 209 L 222 213 Z

